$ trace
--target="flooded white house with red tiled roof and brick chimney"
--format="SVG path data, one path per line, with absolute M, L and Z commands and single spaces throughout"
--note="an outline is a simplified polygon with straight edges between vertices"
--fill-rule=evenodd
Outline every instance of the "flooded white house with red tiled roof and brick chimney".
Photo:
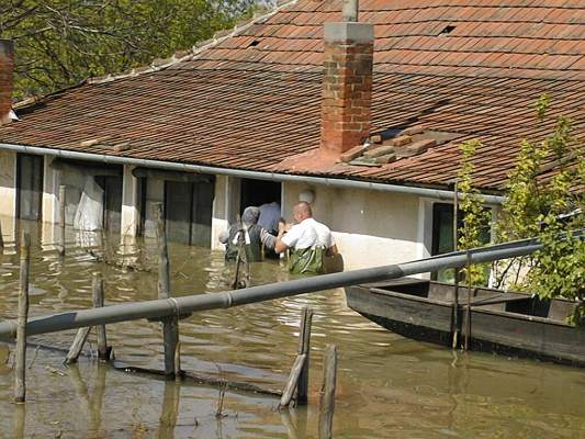
M 350 2 L 349 2 L 350 3 Z M 348 4 L 349 4 L 348 3 Z M 0 216 L 222 248 L 248 205 L 310 200 L 346 268 L 452 247 L 458 146 L 494 211 L 522 138 L 560 114 L 583 135 L 577 0 L 297 0 L 169 59 L 12 102 L 0 42 Z M 561 4 L 559 3 L 559 4 Z M 547 92 L 550 116 L 535 102 Z M 553 172 L 550 167 L 542 177 Z

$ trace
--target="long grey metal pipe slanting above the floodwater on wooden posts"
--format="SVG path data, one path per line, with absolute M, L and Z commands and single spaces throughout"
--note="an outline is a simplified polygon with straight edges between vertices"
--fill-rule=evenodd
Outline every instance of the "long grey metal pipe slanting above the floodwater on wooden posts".
M 536 240 L 527 239 L 499 246 L 477 248 L 470 250 L 471 261 L 475 263 L 488 262 L 526 256 L 540 247 L 541 245 L 536 243 Z M 405 275 L 437 271 L 443 268 L 463 267 L 466 261 L 466 251 L 457 251 L 412 262 L 324 274 L 236 291 L 195 294 L 158 301 L 124 303 L 102 308 L 72 311 L 33 318 L 26 325 L 26 334 L 56 333 L 83 326 L 104 325 L 139 318 L 182 316 L 196 311 L 228 308 L 339 286 L 397 279 Z M 16 325 L 13 322 L 0 323 L 0 340 L 13 339 L 15 330 Z

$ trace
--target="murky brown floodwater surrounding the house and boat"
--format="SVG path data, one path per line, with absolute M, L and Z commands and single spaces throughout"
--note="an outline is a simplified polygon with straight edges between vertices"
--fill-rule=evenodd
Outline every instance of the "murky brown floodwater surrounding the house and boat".
M 34 224 L 25 227 L 33 237 L 32 316 L 90 307 L 93 272 L 105 279 L 106 305 L 156 299 L 156 274 L 95 261 L 85 247 L 95 244 L 88 236 L 68 230 L 61 259 L 41 243 Z M 156 270 L 156 243 L 108 241 L 110 259 Z M 180 245 L 169 251 L 172 295 L 227 289 L 230 268 L 222 252 Z M 18 266 L 8 243 L 0 256 L 0 319 L 16 315 Z M 254 284 L 286 279 L 277 262 L 252 267 Z M 89 357 L 65 367 L 63 352 L 34 347 L 26 404 L 15 405 L 14 347 L 0 344 L 0 438 L 316 438 L 327 344 L 339 356 L 336 438 L 585 438 L 585 371 L 408 340 L 349 309 L 341 290 L 196 313 L 180 323 L 182 369 L 282 389 L 304 306 L 314 309 L 306 407 L 279 412 L 274 397 L 228 389 L 224 416 L 216 418 L 216 387 L 127 373 Z M 67 348 L 74 335 L 33 339 Z M 110 325 L 108 337 L 116 360 L 162 369 L 157 323 Z M 94 347 L 93 335 L 90 341 Z

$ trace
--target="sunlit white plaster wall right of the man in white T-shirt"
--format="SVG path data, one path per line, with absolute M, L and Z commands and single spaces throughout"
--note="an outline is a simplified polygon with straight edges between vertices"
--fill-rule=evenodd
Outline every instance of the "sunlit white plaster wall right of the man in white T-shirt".
M 346 270 L 405 262 L 419 251 L 418 196 L 358 189 L 283 183 L 284 216 L 299 194 L 313 190 L 313 213 L 334 232 Z

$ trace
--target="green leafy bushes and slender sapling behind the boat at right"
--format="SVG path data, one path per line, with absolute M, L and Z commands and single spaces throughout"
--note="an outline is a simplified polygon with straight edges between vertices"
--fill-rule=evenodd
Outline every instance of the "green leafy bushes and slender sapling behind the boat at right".
M 537 103 L 539 124 L 544 122 L 550 99 L 543 94 Z M 541 142 L 525 139 L 509 175 L 506 201 L 495 225 L 500 243 L 538 237 L 541 250 L 522 258 L 495 264 L 496 286 L 536 293 L 540 297 L 566 297 L 580 303 L 574 323 L 585 320 L 585 240 L 569 234 L 585 227 L 584 146 L 573 135 L 571 120 L 560 116 L 553 133 Z M 480 144 L 462 146 L 461 190 L 471 193 L 469 206 L 462 207 L 463 248 L 477 241 L 481 201 L 472 189 L 473 168 L 469 162 Z M 463 199 L 465 200 L 465 198 Z M 463 204 L 463 203 L 462 203 Z M 462 236 L 463 237 L 463 236 Z

